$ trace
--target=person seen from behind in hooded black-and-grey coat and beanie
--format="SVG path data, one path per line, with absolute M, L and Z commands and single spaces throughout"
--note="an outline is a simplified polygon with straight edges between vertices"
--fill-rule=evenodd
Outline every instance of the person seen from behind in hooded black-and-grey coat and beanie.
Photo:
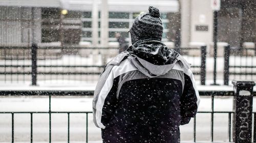
M 139 15 L 132 43 L 106 65 L 97 84 L 94 123 L 103 142 L 180 142 L 179 126 L 199 104 L 189 65 L 162 42 L 158 9 Z

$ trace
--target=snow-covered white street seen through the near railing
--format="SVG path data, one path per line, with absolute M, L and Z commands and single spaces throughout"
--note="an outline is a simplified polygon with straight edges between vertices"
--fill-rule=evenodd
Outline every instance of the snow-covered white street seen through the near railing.
M 88 87 L 92 90 L 94 87 Z M 214 87 L 199 86 L 199 90 L 204 88 L 207 90 L 232 90 L 232 87 Z M 29 90 L 65 90 L 60 87 L 30 87 Z M 27 90 L 25 87 L 16 88 L 15 90 Z M 14 90 L 12 87 L 2 87 L 3 90 Z M 67 90 L 67 88 L 66 88 Z M 81 87 L 73 87 L 70 90 L 84 90 Z M 231 97 L 216 97 L 215 111 L 232 111 Z M 52 111 L 92 111 L 92 97 L 52 97 Z M 1 111 L 48 111 L 49 98 L 45 97 L 1 97 Z M 210 111 L 211 99 L 209 97 L 201 97 L 199 111 Z M 256 100 L 254 98 L 253 111 L 256 110 Z M 52 113 L 52 141 L 67 141 L 68 138 L 68 118 L 66 113 Z M 11 141 L 11 114 L 0 114 L 0 142 Z M 193 140 L 193 123 L 192 119 L 188 125 L 180 127 L 181 140 Z M 210 113 L 198 113 L 197 115 L 197 140 L 210 140 Z M 100 129 L 96 128 L 92 121 L 92 114 L 89 114 L 89 141 L 97 141 L 101 139 Z M 30 114 L 22 113 L 14 115 L 14 135 L 15 141 L 30 140 Z M 216 113 L 214 115 L 214 140 L 227 141 L 228 139 L 228 115 L 227 113 Z M 33 115 L 33 141 L 49 140 L 49 114 L 35 113 Z M 70 115 L 70 140 L 84 141 L 86 140 L 86 115 L 82 113 L 72 113 Z

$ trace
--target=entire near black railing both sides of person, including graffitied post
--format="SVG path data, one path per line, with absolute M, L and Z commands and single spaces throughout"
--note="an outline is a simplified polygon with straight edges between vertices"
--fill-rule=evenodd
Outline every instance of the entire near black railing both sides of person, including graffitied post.
M 214 128 L 215 128 L 215 119 L 214 119 L 214 115 L 216 114 L 227 114 L 228 115 L 228 124 L 226 125 L 226 127 L 228 128 L 228 135 L 227 135 L 227 140 L 229 142 L 231 142 L 233 139 L 235 138 L 239 133 L 238 132 L 234 132 L 234 130 L 236 130 L 236 127 L 238 126 L 237 124 L 240 125 L 240 127 L 242 127 L 242 125 L 244 124 L 243 122 L 239 122 L 236 121 L 235 119 L 237 119 L 237 117 L 239 118 L 244 118 L 245 115 L 243 115 L 243 109 L 247 109 L 250 108 L 250 110 L 248 110 L 248 120 L 245 120 L 244 122 L 248 124 L 248 127 L 250 128 L 251 126 L 253 127 L 253 132 L 252 132 L 252 128 L 250 129 L 240 129 L 245 131 L 250 131 L 249 132 L 249 140 L 251 140 L 251 137 L 253 135 L 253 142 L 256 142 L 256 112 L 252 112 L 252 103 L 251 104 L 245 104 L 244 102 L 240 101 L 244 100 L 244 99 L 248 99 L 252 102 L 252 97 L 256 96 L 256 92 L 252 92 L 253 86 L 254 86 L 254 82 L 240 82 L 234 84 L 234 86 L 236 87 L 235 90 L 237 91 L 233 91 L 233 90 L 218 90 L 218 91 L 207 91 L 207 90 L 202 90 L 199 91 L 199 94 L 201 97 L 208 97 L 211 99 L 211 110 L 210 111 L 199 111 L 197 116 L 200 114 L 210 114 L 211 116 L 211 121 L 210 121 L 210 133 L 211 133 L 211 137 L 209 141 L 215 141 L 214 140 Z M 247 90 L 248 92 L 250 92 L 250 95 L 240 95 L 240 94 L 236 94 L 236 93 L 240 93 L 240 91 L 243 90 Z M 94 93 L 94 91 L 72 91 L 72 90 L 56 90 L 56 91 L 50 91 L 50 90 L 22 90 L 22 91 L 16 91 L 16 90 L 2 90 L 0 92 L 0 96 L 2 96 L 2 98 L 6 98 L 6 97 L 10 97 L 10 96 L 37 96 L 37 97 L 41 97 L 41 96 L 48 96 L 49 97 L 49 110 L 48 111 L 40 111 L 40 112 L 36 112 L 36 111 L 0 111 L 0 114 L 10 114 L 11 115 L 11 128 L 12 128 L 12 132 L 11 132 L 11 138 L 12 138 L 12 142 L 14 142 L 14 116 L 16 114 L 20 114 L 20 113 L 26 113 L 30 115 L 30 142 L 33 142 L 33 115 L 35 114 L 39 114 L 39 113 L 47 113 L 49 114 L 49 142 L 51 142 L 51 116 L 52 114 L 59 114 L 59 113 L 66 113 L 68 115 L 68 138 L 67 141 L 70 142 L 70 114 L 73 113 L 82 113 L 82 114 L 86 114 L 86 142 L 88 142 L 88 133 L 90 132 L 90 130 L 88 130 L 88 114 L 92 113 L 91 111 L 52 111 L 51 109 L 51 98 L 55 97 L 55 96 L 92 96 Z M 233 111 L 215 111 L 214 105 L 215 105 L 215 99 L 218 97 L 233 97 L 234 102 L 233 103 Z M 239 105 L 240 104 L 240 105 Z M 239 108 L 239 109 L 238 109 Z M 250 114 L 251 113 L 251 114 Z M 241 117 L 240 117 L 241 116 Z M 251 118 L 250 118 L 251 117 Z M 194 142 L 197 142 L 197 128 L 200 128 L 197 126 L 197 118 L 194 118 Z M 254 123 L 252 124 L 252 119 L 254 121 Z M 233 128 L 232 128 L 233 127 Z M 232 135 L 233 133 L 233 135 Z M 241 132 L 240 132 L 241 133 Z M 201 135 L 201 134 L 200 134 Z M 248 135 L 248 133 L 247 133 Z M 247 138 L 248 140 L 248 138 Z

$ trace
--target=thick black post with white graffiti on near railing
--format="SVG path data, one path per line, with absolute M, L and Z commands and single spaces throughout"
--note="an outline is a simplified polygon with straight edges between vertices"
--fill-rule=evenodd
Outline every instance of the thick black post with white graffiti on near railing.
M 234 85 L 233 100 L 233 141 L 251 143 L 252 137 L 252 99 L 254 81 L 232 81 Z

